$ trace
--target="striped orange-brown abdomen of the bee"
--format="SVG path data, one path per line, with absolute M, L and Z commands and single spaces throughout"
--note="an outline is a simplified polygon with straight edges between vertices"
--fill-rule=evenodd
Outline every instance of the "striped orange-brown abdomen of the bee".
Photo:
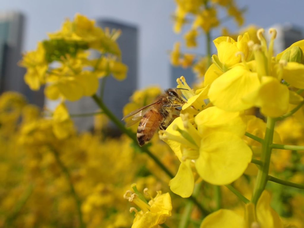
M 140 146 L 143 146 L 151 140 L 162 120 L 163 117 L 161 114 L 153 109 L 143 115 L 137 128 L 137 141 Z

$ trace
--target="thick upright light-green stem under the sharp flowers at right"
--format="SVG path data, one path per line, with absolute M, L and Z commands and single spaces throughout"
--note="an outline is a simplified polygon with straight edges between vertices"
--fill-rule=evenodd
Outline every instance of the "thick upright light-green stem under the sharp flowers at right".
M 253 202 L 254 204 L 257 203 L 257 200 L 260 198 L 268 181 L 268 172 L 272 149 L 270 145 L 272 144 L 274 129 L 275 119 L 268 117 L 266 123 L 265 137 L 262 143 L 261 161 L 263 162 L 263 166 L 259 167 L 259 171 L 257 173 L 257 180 L 254 186 L 253 196 L 251 198 L 251 202 Z

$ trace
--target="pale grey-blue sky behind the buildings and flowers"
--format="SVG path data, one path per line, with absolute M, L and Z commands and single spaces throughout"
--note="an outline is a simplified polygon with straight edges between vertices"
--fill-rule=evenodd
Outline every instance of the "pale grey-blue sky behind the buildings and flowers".
M 0 5 L 0 13 L 19 11 L 26 16 L 24 51 L 35 49 L 38 41 L 47 38 L 47 32 L 58 30 L 65 18 L 73 18 L 77 12 L 92 19 L 115 19 L 135 25 L 139 28 L 139 87 L 170 85 L 168 50 L 172 50 L 174 42 L 182 41 L 182 36 L 172 30 L 173 0 L 0 0 Z M 291 23 L 304 27 L 302 0 L 237 0 L 237 5 L 247 7 L 244 26 L 268 28 Z M 237 31 L 232 21 L 225 25 Z M 217 35 L 215 32 L 212 37 Z M 200 38 L 195 52 L 205 53 L 204 41 L 204 37 Z

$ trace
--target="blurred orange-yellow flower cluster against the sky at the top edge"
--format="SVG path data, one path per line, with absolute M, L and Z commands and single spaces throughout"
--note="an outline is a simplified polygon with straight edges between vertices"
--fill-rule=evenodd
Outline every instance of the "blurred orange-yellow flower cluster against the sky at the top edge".
M 221 26 L 222 19 L 217 15 L 218 11 L 226 10 L 227 18 L 233 18 L 238 26 L 244 23 L 243 10 L 238 9 L 233 0 L 225 1 L 185 1 L 176 0 L 176 10 L 174 13 L 174 32 L 180 33 L 185 24 L 191 23 L 191 29 L 185 32 L 185 46 L 189 49 L 198 47 L 198 38 L 206 35 L 207 43 L 210 40 L 212 29 Z M 251 29 L 252 30 L 252 29 Z M 223 31 L 227 32 L 226 28 Z M 192 67 L 198 79 L 202 79 L 209 67 L 209 55 L 211 50 L 207 50 L 207 57 L 188 52 L 181 52 L 181 42 L 176 42 L 171 52 L 171 64 L 183 68 Z M 202 81 L 202 80 L 200 80 Z

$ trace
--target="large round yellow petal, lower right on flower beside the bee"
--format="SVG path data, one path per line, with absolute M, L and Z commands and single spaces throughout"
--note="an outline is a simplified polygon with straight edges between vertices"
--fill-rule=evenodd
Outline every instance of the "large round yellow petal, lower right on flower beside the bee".
M 252 152 L 238 136 L 216 132 L 202 139 L 195 168 L 213 185 L 226 185 L 239 178 L 251 161 Z

